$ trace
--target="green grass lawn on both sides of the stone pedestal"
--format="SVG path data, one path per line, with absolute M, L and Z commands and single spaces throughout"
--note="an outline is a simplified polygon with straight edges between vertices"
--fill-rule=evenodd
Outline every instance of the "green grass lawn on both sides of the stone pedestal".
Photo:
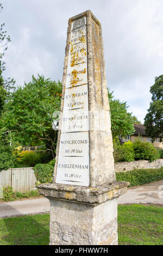
M 0 245 L 48 245 L 49 214 L 0 220 Z M 163 245 L 163 208 L 118 206 L 119 245 Z

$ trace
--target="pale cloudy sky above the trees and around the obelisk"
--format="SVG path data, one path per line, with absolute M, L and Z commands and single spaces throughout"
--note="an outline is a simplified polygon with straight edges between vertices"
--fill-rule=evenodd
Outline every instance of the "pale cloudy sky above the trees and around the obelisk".
M 5 77 L 18 86 L 34 74 L 62 79 L 68 19 L 85 10 L 101 22 L 107 83 L 129 111 L 145 118 L 154 78 L 163 74 L 162 0 L 0 0 L 11 37 Z

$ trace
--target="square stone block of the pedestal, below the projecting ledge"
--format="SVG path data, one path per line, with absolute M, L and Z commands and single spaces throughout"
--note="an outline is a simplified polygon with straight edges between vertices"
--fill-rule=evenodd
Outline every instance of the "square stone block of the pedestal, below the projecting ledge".
M 97 206 L 50 201 L 51 245 L 117 244 L 117 199 Z

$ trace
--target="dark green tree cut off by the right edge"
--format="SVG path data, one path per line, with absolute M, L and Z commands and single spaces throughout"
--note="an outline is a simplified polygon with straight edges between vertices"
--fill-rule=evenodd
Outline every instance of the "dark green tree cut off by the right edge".
M 155 77 L 155 83 L 151 86 L 152 102 L 145 117 L 146 133 L 154 141 L 163 138 L 163 75 Z

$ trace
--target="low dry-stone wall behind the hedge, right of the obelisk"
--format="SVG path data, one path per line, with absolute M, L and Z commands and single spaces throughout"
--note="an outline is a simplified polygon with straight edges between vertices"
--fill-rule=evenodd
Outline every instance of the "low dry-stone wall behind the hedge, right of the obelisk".
M 120 162 L 114 164 L 115 172 L 128 172 L 129 170 L 136 169 L 156 169 L 163 166 L 163 159 L 157 159 L 153 162 L 147 160 L 132 161 L 132 162 Z

